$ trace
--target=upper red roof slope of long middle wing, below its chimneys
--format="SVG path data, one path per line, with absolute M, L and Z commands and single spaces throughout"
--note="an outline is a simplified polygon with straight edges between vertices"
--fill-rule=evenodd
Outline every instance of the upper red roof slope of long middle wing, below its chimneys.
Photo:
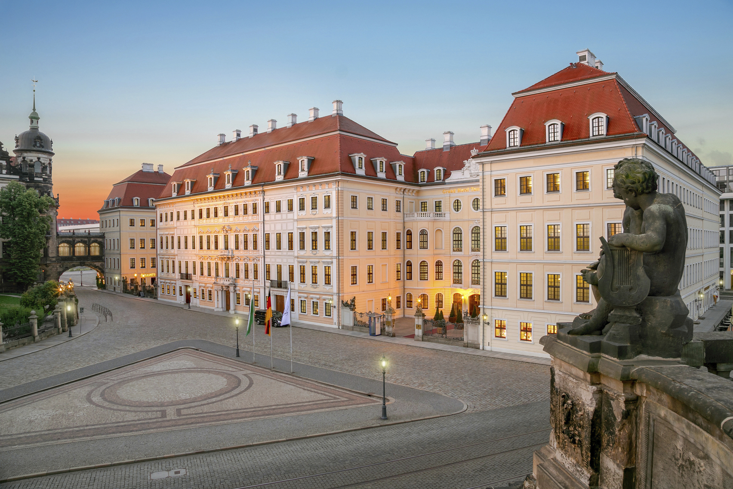
M 318 117 L 312 122 L 306 121 L 297 123 L 292 127 L 281 127 L 271 132 L 262 132 L 254 137 L 243 137 L 238 141 L 225 142 L 223 145 L 211 148 L 206 153 L 196 156 L 190 162 L 183 166 L 196 163 L 207 162 L 213 159 L 225 158 L 248 151 L 268 148 L 274 145 L 281 145 L 287 142 L 303 140 L 310 137 L 317 137 L 334 131 L 342 131 L 357 136 L 369 137 L 370 139 L 387 142 L 393 144 L 389 140 L 384 139 L 379 134 L 369 131 L 364 126 L 355 123 L 353 120 L 343 115 Z M 302 156 L 302 155 L 299 155 Z

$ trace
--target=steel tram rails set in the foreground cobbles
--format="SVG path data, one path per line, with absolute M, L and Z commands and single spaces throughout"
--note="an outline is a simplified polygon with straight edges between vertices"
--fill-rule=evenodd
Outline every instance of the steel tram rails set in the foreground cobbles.
M 385 460 L 383 462 L 369 463 L 369 464 L 366 464 L 366 465 L 363 465 L 363 466 L 356 466 L 356 467 L 350 467 L 350 468 L 341 468 L 341 469 L 335 470 L 335 471 L 320 472 L 318 474 L 309 474 L 309 475 L 305 475 L 305 476 L 301 476 L 301 477 L 292 477 L 290 479 L 280 479 L 280 480 L 276 480 L 276 481 L 272 481 L 272 482 L 261 482 L 259 484 L 241 486 L 241 487 L 238 487 L 236 489 L 254 489 L 254 488 L 265 488 L 265 487 L 273 486 L 273 485 L 286 485 L 286 484 L 290 484 L 290 483 L 296 482 L 296 481 L 302 481 L 302 480 L 306 480 L 306 479 L 313 479 L 315 477 L 327 477 L 327 476 L 331 476 L 331 475 L 334 475 L 334 474 L 343 474 L 343 473 L 346 473 L 346 472 L 358 471 L 358 470 L 367 469 L 367 468 L 375 468 L 377 466 L 384 466 L 384 465 L 390 464 L 390 463 L 399 463 L 399 462 L 404 463 L 405 461 L 414 460 L 414 459 L 417 459 L 419 457 L 427 457 L 427 456 L 430 456 L 430 455 L 445 454 L 447 452 L 454 452 L 456 450 L 467 449 L 467 448 L 471 448 L 471 447 L 475 447 L 475 446 L 481 446 L 481 445 L 485 445 L 487 443 L 496 443 L 496 442 L 499 442 L 499 441 L 510 440 L 512 438 L 519 438 L 519 437 L 522 437 L 522 436 L 534 435 L 536 433 L 546 432 L 546 431 L 549 431 L 549 430 L 550 430 L 550 428 L 545 428 L 545 429 L 542 429 L 542 430 L 534 430 L 534 431 L 529 431 L 529 432 L 523 432 L 523 433 L 519 433 L 517 435 L 505 436 L 505 437 L 502 437 L 502 438 L 493 438 L 492 440 L 479 441 L 479 442 L 476 442 L 476 443 L 468 443 L 468 444 L 461 445 L 461 446 L 454 446 L 454 447 L 451 447 L 449 449 L 437 450 L 435 452 L 426 452 L 426 453 L 422 453 L 422 454 L 410 455 L 409 457 L 401 457 L 401 458 L 396 458 L 396 459 L 392 459 L 392 460 Z M 463 460 L 456 460 L 454 462 L 442 463 L 442 464 L 439 464 L 439 465 L 436 465 L 436 466 L 430 466 L 430 467 L 426 467 L 426 468 L 419 468 L 419 469 L 410 470 L 410 471 L 402 471 L 399 474 L 391 474 L 391 475 L 388 475 L 388 476 L 385 476 L 385 477 L 377 477 L 377 478 L 372 478 L 372 479 L 366 479 L 366 480 L 362 480 L 362 481 L 358 481 L 358 482 L 352 482 L 352 483 L 346 484 L 346 485 L 334 485 L 332 487 L 329 487 L 328 489 L 353 488 L 353 487 L 356 487 L 358 485 L 372 484 L 374 482 L 380 482 L 380 481 L 383 481 L 383 480 L 394 479 L 394 478 L 397 478 L 397 477 L 404 477 L 404 476 L 408 476 L 408 475 L 411 475 L 411 474 L 419 474 L 421 472 L 433 471 L 433 470 L 437 470 L 439 468 L 446 468 L 446 467 L 449 467 L 449 466 L 457 466 L 457 465 L 460 465 L 462 463 L 475 462 L 476 460 L 482 460 L 482 459 L 485 459 L 485 458 L 496 457 L 496 456 L 501 455 L 501 454 L 508 454 L 508 453 L 512 453 L 512 452 L 518 452 L 518 451 L 524 450 L 524 449 L 529 449 L 529 448 L 543 446 L 546 443 L 547 443 L 546 441 L 543 441 L 542 443 L 532 443 L 532 444 L 526 445 L 526 446 L 520 446 L 520 447 L 517 447 L 517 448 L 507 449 L 507 450 L 503 450 L 503 451 L 500 451 L 500 452 L 492 452 L 490 454 L 484 454 L 484 455 L 480 455 L 480 456 L 477 456 L 477 457 L 469 457 L 469 458 L 466 458 L 466 459 L 463 459 Z M 526 475 L 527 475 L 527 473 L 518 474 L 516 476 L 509 477 L 508 479 L 501 479 L 501 480 L 495 480 L 495 481 L 487 482 L 486 484 L 477 485 L 477 486 L 474 486 L 473 488 L 469 488 L 469 489 L 483 488 L 483 487 L 486 487 L 487 485 L 496 484 L 496 483 L 499 483 L 499 482 L 506 482 L 506 481 L 509 481 L 509 480 L 514 480 L 514 479 L 517 479 L 519 477 L 524 477 Z M 324 487 L 324 486 L 323 485 L 320 485 L 319 487 Z

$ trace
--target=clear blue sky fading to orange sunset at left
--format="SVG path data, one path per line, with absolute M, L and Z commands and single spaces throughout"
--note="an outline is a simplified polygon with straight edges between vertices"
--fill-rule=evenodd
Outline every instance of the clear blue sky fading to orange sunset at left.
M 561 6 L 561 7 L 559 7 Z M 498 126 L 512 92 L 591 49 L 704 164 L 731 164 L 730 1 L 7 2 L 0 141 L 54 140 L 59 217 L 97 219 L 142 162 L 167 173 L 216 145 L 317 106 L 402 153 L 443 131 Z

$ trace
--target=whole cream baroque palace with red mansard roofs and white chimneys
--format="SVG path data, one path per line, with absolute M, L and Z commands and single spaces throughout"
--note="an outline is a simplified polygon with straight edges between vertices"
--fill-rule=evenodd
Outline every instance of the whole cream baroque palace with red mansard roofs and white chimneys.
M 155 200 L 158 298 L 282 311 L 339 327 L 356 311 L 486 314 L 480 347 L 545 356 L 539 338 L 595 306 L 581 269 L 622 232 L 614 164 L 646 159 L 687 211 L 680 292 L 696 318 L 718 278 L 715 178 L 674 128 L 592 52 L 514 93 L 492 137 L 412 156 L 345 117 L 250 126 L 177 167 Z

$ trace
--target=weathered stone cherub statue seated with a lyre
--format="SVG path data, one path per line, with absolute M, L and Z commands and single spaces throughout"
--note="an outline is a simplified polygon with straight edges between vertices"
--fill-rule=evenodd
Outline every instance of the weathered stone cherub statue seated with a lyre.
M 688 239 L 685 209 L 677 195 L 657 192 L 657 181 L 649 162 L 627 158 L 616 164 L 614 197 L 626 204 L 624 232 L 608 242 L 601 238 L 599 260 L 582 270 L 598 306 L 575 318 L 567 331 L 625 343 L 625 357 L 678 357 L 692 337 L 692 320 L 677 289 Z

